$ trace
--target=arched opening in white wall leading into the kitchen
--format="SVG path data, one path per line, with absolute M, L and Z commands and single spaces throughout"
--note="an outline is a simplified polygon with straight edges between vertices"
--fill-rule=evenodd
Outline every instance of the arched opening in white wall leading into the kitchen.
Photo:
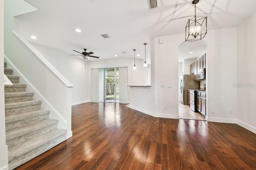
M 201 93 L 206 94 L 206 88 L 204 88 L 204 84 L 206 84 L 206 76 L 202 76 L 206 75 L 207 72 L 206 49 L 207 43 L 203 40 L 194 42 L 187 41 L 179 45 L 178 86 L 180 87 L 180 119 L 206 120 L 206 97 L 200 96 Z M 202 99 L 204 105 L 201 105 L 200 101 L 202 101 Z M 202 108 L 205 110 L 204 112 L 202 111 Z

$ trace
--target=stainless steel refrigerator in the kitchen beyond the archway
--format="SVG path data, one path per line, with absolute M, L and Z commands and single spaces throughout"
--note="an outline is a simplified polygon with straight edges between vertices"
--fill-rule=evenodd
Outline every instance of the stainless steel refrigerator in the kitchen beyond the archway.
M 194 74 L 180 76 L 180 100 L 183 105 L 188 105 L 188 89 L 199 89 L 198 81 L 194 81 Z

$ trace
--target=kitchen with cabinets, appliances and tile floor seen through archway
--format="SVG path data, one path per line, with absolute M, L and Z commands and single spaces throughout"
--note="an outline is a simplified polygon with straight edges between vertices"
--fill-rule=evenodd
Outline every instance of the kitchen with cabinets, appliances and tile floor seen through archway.
M 206 53 L 185 61 L 190 74 L 180 76 L 180 119 L 205 121 L 206 116 Z

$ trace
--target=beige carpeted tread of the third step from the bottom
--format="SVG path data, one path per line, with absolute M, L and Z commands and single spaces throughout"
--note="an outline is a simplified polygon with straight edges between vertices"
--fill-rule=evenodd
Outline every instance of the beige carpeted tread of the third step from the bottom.
M 48 113 L 50 113 L 49 110 L 37 110 L 37 111 L 19 113 L 19 114 L 16 114 L 16 115 L 10 115 L 10 116 L 5 117 L 5 123 L 16 122 L 16 121 L 20 121 L 22 119 L 28 119 L 28 118 L 31 118 L 31 117 L 45 115 L 45 114 L 48 114 Z

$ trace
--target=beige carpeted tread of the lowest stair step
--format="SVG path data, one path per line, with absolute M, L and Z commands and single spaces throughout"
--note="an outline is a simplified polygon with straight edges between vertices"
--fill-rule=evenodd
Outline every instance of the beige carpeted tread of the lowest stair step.
M 26 154 L 27 152 L 30 152 L 31 150 L 42 146 L 43 144 L 46 144 L 47 142 L 54 140 L 55 138 L 58 138 L 59 136 L 62 136 L 63 134 L 66 134 L 66 132 L 67 130 L 65 129 L 55 129 L 45 134 L 42 134 L 41 136 L 32 138 L 30 140 L 27 140 L 26 142 L 8 148 L 9 162 L 23 154 Z

